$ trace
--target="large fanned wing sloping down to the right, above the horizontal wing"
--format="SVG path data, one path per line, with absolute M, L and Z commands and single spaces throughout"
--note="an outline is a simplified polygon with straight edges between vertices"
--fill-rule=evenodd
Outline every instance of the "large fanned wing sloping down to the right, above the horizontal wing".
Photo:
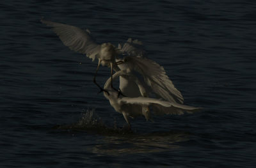
M 168 102 L 183 103 L 183 97 L 166 75 L 163 66 L 155 61 L 140 56 L 127 56 L 125 63 L 131 70 L 139 72 L 145 83 L 152 89 L 157 96 Z

